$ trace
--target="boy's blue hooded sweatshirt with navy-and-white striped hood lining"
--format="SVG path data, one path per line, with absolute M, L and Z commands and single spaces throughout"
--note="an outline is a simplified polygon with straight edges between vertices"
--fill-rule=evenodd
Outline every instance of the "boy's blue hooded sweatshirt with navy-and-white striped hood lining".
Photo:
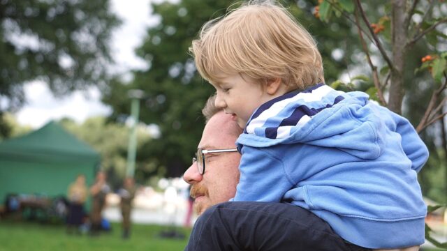
M 258 107 L 237 139 L 233 201 L 307 208 L 365 248 L 424 243 L 417 172 L 427 147 L 408 120 L 368 98 L 317 84 Z

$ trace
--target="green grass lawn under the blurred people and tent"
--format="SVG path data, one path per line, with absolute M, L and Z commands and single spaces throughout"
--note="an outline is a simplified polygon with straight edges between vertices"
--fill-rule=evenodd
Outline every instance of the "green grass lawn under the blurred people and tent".
M 66 234 L 63 225 L 42 225 L 37 222 L 0 221 L 0 251 L 22 250 L 129 250 L 170 251 L 184 250 L 191 229 L 179 228 L 185 238 L 161 238 L 168 227 L 133 225 L 130 239 L 121 238 L 121 225 L 112 224 L 112 231 L 101 236 Z

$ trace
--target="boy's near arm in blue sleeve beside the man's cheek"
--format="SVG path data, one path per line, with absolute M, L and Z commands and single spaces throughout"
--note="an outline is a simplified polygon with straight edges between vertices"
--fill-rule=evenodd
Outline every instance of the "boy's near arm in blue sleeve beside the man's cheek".
M 264 149 L 242 147 L 240 181 L 233 201 L 279 202 L 293 187 L 281 160 Z

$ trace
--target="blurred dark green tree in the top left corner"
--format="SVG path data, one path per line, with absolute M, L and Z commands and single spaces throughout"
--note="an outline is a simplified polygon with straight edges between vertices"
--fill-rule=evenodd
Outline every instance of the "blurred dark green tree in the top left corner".
M 61 96 L 105 84 L 108 41 L 119 24 L 109 0 L 0 1 L 0 134 L 5 111 L 25 101 L 26 82 L 41 80 Z

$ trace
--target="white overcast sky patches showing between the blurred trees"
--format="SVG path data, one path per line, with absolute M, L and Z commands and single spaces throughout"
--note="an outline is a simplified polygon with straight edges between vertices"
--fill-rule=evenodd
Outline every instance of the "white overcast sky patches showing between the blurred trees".
M 111 1 L 112 10 L 123 20 L 112 38 L 112 56 L 117 61 L 115 69 L 126 73 L 131 69 L 145 68 L 145 62 L 138 59 L 133 50 L 142 43 L 147 26 L 157 21 L 149 16 L 150 0 Z M 15 116 L 20 124 L 33 128 L 39 128 L 52 119 L 68 117 L 82 123 L 90 116 L 111 112 L 110 107 L 99 101 L 101 93 L 96 88 L 83 93 L 75 91 L 61 99 L 54 98 L 42 82 L 32 82 L 24 89 L 27 105 Z

